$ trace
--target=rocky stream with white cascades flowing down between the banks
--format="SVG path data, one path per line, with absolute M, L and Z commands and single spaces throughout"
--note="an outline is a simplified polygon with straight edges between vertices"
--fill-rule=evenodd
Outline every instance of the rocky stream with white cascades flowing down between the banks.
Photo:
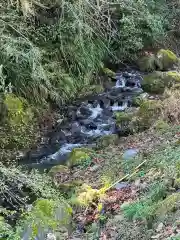
M 133 97 L 143 92 L 141 80 L 141 73 L 136 70 L 118 71 L 112 87 L 68 106 L 67 119 L 57 124 L 48 144 L 30 151 L 21 163 L 29 168 L 50 169 L 64 164 L 73 148 L 92 147 L 105 135 L 121 136 L 114 113 L 133 106 Z

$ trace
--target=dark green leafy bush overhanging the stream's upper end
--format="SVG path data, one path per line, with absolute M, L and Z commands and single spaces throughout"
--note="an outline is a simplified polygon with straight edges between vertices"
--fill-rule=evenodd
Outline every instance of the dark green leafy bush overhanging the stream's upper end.
M 168 6 L 164 0 L 121 1 L 114 10 L 118 33 L 113 41 L 119 59 L 134 58 L 144 46 L 165 35 Z

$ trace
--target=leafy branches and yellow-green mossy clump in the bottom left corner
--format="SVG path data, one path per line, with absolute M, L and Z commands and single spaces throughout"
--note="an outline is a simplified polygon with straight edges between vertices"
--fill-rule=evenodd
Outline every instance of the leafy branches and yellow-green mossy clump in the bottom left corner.
M 72 209 L 49 176 L 36 171 L 22 172 L 18 168 L 6 168 L 2 165 L 0 173 L 0 193 L 1 197 L 5 196 L 5 199 L 1 200 L 6 202 L 7 209 L 14 208 L 21 213 L 16 229 L 3 219 L 0 221 L 0 234 L 7 235 L 5 239 L 19 240 L 24 230 L 28 229 L 30 230 L 28 239 L 31 239 L 37 235 L 37 231 L 66 227 L 70 223 Z M 32 208 L 27 211 L 26 204 L 34 200 L 36 201 Z M 4 210 L 3 213 L 8 216 L 13 211 Z

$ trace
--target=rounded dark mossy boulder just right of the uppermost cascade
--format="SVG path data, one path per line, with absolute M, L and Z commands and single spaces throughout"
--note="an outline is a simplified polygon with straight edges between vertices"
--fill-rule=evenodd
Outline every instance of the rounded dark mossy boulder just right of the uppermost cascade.
M 163 73 L 158 71 L 144 76 L 141 83 L 143 90 L 148 93 L 162 94 L 166 87 L 163 76 Z

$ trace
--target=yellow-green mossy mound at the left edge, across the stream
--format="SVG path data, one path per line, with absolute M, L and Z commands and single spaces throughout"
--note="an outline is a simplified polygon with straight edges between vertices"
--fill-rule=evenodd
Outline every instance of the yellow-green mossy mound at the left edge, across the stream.
M 28 147 L 37 134 L 31 106 L 23 98 L 14 94 L 6 94 L 4 103 L 7 108 L 7 117 L 1 131 L 1 148 L 20 149 Z

